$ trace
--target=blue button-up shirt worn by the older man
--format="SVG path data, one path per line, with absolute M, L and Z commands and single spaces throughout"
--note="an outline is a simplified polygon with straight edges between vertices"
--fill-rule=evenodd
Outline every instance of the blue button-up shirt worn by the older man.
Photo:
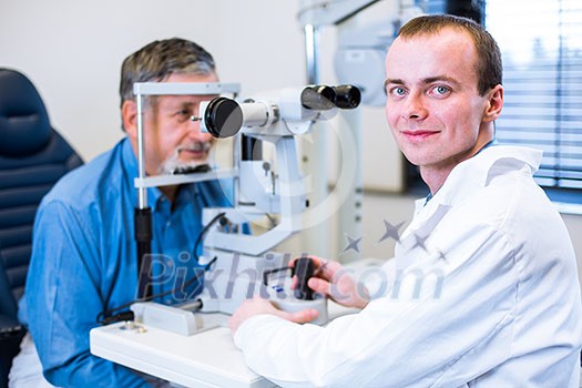
M 47 379 L 57 386 L 139 387 L 130 369 L 92 356 L 89 331 L 96 316 L 136 297 L 134 208 L 137 162 L 125 139 L 65 175 L 43 198 L 19 318 L 28 325 Z M 183 185 L 171 204 L 147 188 L 155 254 L 153 293 L 186 283 L 197 267 L 192 253 L 204 206 L 229 206 L 232 181 Z M 200 252 L 198 252 L 200 253 Z M 201 284 L 157 300 L 183 302 Z

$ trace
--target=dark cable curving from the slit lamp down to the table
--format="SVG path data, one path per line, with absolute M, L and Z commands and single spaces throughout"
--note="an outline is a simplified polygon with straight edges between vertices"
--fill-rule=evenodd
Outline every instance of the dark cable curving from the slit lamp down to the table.
M 218 213 L 214 218 L 211 219 L 211 222 L 206 226 L 204 226 L 202 232 L 198 234 L 198 237 L 196 238 L 196 242 L 194 243 L 194 252 L 192 253 L 192 255 L 194 256 L 194 259 L 196 261 L 196 263 L 200 263 L 200 256 L 197 254 L 197 251 L 198 251 L 200 244 L 202 243 L 202 239 L 204 238 L 204 236 L 206 235 L 208 229 L 212 227 L 212 225 L 214 225 L 218 219 L 224 217 L 225 214 L 226 214 L 225 212 Z M 152 300 L 152 299 L 155 299 L 155 298 L 161 298 L 161 297 L 164 297 L 166 295 L 173 294 L 176 290 L 180 290 L 181 288 L 185 288 L 185 287 L 190 286 L 194 282 L 198 280 L 200 277 L 206 270 L 208 270 L 211 268 L 211 266 L 216 262 L 217 258 L 218 258 L 217 256 L 214 256 L 206 265 L 203 266 L 203 268 L 204 268 L 203 272 L 196 270 L 196 275 L 193 278 L 191 278 L 190 280 L 187 280 L 185 284 L 180 285 L 180 287 L 175 287 L 175 288 L 170 289 L 170 290 L 164 292 L 164 293 L 150 295 L 150 296 L 147 296 L 145 298 L 142 298 L 142 299 L 133 299 L 132 302 L 125 303 L 125 304 L 123 304 L 121 306 L 118 306 L 115 308 L 110 308 L 108 310 L 103 310 L 103 312 L 98 314 L 96 321 L 99 324 L 101 324 L 101 325 L 109 325 L 109 324 L 113 324 L 113 323 L 120 321 L 120 320 L 132 320 L 134 318 L 133 312 L 123 312 L 123 313 L 119 313 L 119 314 L 115 314 L 115 315 L 111 315 L 111 314 L 113 314 L 115 312 L 119 312 L 121 309 L 127 308 L 131 305 L 133 305 L 134 303 L 147 302 L 147 300 Z

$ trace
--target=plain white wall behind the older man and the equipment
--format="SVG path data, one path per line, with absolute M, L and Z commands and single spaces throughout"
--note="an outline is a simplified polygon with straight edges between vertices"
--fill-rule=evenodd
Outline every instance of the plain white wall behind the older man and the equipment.
M 222 81 L 242 83 L 243 95 L 305 84 L 298 4 L 295 0 L 0 0 L 0 67 L 20 70 L 34 82 L 53 125 L 88 161 L 123 136 L 118 96 L 121 62 L 154 39 L 183 37 L 198 42 L 215 57 Z M 335 43 L 334 28 L 325 29 L 321 82 L 335 81 Z M 382 167 L 382 176 L 366 174 L 366 182 L 400 190 L 400 154 L 388 135 L 382 110 L 368 111 L 364 142 L 370 159 L 365 171 L 374 165 L 388 169 Z

